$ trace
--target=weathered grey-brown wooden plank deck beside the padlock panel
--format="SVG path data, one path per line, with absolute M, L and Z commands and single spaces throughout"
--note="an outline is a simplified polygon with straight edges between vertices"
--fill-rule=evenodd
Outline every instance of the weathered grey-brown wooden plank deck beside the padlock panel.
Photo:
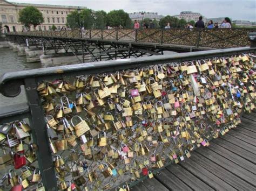
M 139 190 L 256 190 L 256 113 L 191 158 L 130 188 Z

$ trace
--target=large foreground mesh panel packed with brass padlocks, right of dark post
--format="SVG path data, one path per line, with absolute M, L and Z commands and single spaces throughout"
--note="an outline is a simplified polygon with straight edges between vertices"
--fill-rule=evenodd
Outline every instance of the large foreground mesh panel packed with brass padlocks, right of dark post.
M 39 83 L 59 189 L 129 186 L 208 146 L 254 109 L 253 66 L 244 54 Z

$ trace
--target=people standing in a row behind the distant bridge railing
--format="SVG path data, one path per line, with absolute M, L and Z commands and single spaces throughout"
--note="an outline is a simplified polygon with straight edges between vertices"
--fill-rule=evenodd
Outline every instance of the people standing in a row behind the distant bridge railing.
M 150 20 L 150 24 L 147 23 L 143 23 L 143 29 L 154 29 L 156 27 L 156 25 L 154 25 L 154 23 L 152 22 L 152 20 Z M 199 20 L 196 22 L 196 24 L 194 26 L 192 26 L 191 23 L 187 23 L 186 28 L 188 29 L 193 29 L 193 27 L 196 28 L 205 28 L 207 27 L 207 29 L 213 29 L 213 28 L 219 28 L 219 23 L 213 23 L 212 20 L 210 20 L 208 22 L 208 25 L 205 26 L 205 23 L 203 22 L 203 17 L 200 16 Z M 223 20 L 223 23 L 220 25 L 220 28 L 231 28 L 232 24 L 231 24 L 231 20 L 228 17 L 225 17 L 225 19 Z M 138 20 L 134 20 L 134 29 L 139 29 L 140 25 Z M 170 23 L 167 23 L 164 27 L 165 29 L 171 29 L 171 25 Z

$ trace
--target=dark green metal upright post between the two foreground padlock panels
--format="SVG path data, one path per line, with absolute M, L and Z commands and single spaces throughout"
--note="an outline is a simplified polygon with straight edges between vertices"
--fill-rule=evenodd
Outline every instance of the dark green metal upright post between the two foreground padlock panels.
M 52 161 L 49 139 L 46 132 L 46 123 L 41 99 L 37 93 L 35 78 L 25 79 L 26 97 L 30 107 L 33 140 L 38 146 L 37 160 L 45 190 L 57 190 L 57 180 Z

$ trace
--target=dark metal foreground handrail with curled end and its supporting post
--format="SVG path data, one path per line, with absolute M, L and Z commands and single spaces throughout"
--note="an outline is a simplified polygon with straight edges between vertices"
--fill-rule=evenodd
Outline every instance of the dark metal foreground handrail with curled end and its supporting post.
M 48 134 L 46 133 L 45 115 L 41 98 L 37 91 L 39 82 L 66 79 L 74 76 L 116 72 L 117 70 L 124 69 L 145 68 L 152 65 L 163 65 L 164 63 L 215 57 L 221 58 L 223 56 L 240 55 L 243 53 L 256 53 L 256 48 L 216 49 L 176 55 L 161 55 L 153 58 L 139 58 L 136 60 L 102 61 L 6 73 L 0 78 L 1 94 L 6 97 L 16 97 L 21 93 L 21 86 L 24 86 L 28 103 L 8 107 L 9 111 L 1 108 L 0 124 L 22 118 L 30 119 L 33 138 L 38 145 L 37 158 L 44 186 L 46 190 L 57 190 L 55 167 L 53 166 L 52 154 L 49 148 Z

